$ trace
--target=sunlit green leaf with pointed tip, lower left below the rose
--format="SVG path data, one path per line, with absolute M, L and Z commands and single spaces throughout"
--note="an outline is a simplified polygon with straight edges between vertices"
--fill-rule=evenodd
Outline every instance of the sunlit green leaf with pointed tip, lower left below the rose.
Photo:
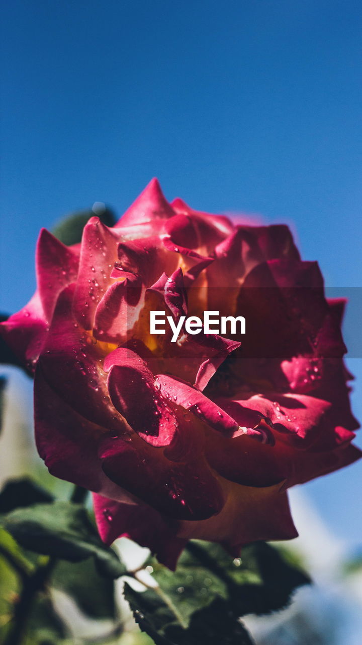
M 80 504 L 55 501 L 17 508 L 5 515 L 3 526 L 26 549 L 79 562 L 93 556 L 97 570 L 118 578 L 125 572 L 115 551 L 101 540 Z

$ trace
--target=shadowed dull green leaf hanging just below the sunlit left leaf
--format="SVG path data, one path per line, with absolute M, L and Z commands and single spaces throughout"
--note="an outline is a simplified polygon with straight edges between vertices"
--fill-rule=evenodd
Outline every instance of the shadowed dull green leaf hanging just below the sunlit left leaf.
M 70 595 L 91 618 L 115 619 L 113 581 L 99 575 L 93 559 L 60 560 L 53 571 L 52 587 Z

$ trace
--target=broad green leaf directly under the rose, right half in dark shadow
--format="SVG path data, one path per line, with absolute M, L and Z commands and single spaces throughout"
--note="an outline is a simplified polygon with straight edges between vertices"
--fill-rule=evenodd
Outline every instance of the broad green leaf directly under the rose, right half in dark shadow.
M 231 599 L 235 613 L 269 613 L 283 608 L 309 577 L 276 548 L 254 542 L 233 559 L 220 544 L 189 542 L 176 571 L 152 561 L 153 575 L 186 621 L 216 597 Z

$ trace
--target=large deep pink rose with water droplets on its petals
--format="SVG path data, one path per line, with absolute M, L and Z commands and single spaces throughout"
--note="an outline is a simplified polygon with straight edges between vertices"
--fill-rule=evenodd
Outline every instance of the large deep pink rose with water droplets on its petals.
M 104 541 L 128 535 L 172 568 L 192 537 L 234 554 L 289 539 L 287 488 L 359 457 L 344 303 L 287 226 L 169 204 L 153 180 L 113 228 L 92 217 L 81 245 L 43 230 L 36 264 L 2 333 L 34 372 L 39 453 L 93 491 Z M 171 343 L 151 310 L 241 314 L 246 334 Z

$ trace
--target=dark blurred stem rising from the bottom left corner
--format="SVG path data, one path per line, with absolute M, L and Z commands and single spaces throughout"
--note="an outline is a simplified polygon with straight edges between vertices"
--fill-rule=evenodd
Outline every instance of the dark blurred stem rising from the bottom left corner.
M 50 558 L 46 564 L 39 567 L 35 573 L 24 580 L 23 591 L 19 602 L 15 604 L 14 616 L 10 630 L 5 639 L 5 645 L 20 645 L 26 629 L 26 623 L 32 611 L 33 602 L 38 591 L 44 591 L 48 577 L 55 566 L 56 560 Z

